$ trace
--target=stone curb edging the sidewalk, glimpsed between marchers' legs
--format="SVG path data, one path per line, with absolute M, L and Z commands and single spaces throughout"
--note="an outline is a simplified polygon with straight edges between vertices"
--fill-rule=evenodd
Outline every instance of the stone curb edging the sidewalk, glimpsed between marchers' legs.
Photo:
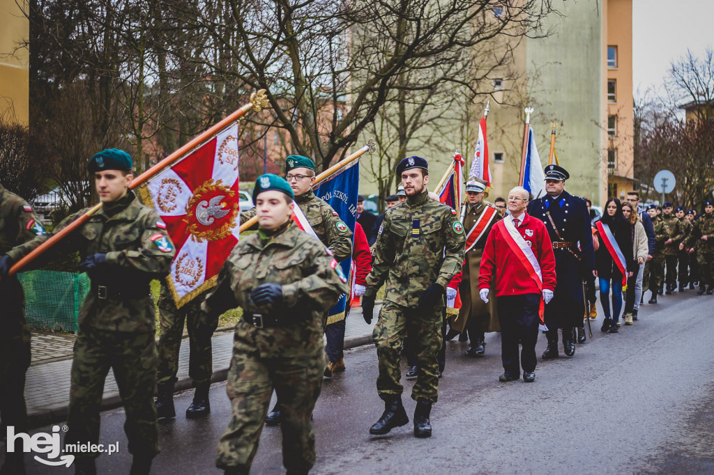
M 216 332 L 228 332 L 233 331 L 233 327 L 222 327 L 216 329 Z M 373 342 L 372 335 L 368 334 L 364 337 L 352 337 L 345 339 L 345 349 L 361 347 L 366 344 L 371 344 Z M 213 372 L 211 376 L 211 384 L 216 382 L 226 381 L 228 377 L 228 368 L 218 369 Z M 176 381 L 174 385 L 174 394 L 177 392 L 186 391 L 191 389 L 191 378 L 185 377 L 180 378 Z M 101 400 L 101 405 L 99 406 L 100 411 L 107 411 L 109 409 L 116 409 L 121 407 L 121 397 L 119 397 L 119 392 L 105 393 Z M 69 413 L 69 402 L 66 404 L 51 404 L 44 407 L 41 411 L 36 411 L 31 414 L 27 414 L 27 425 L 29 429 L 37 429 L 49 424 L 55 424 L 59 422 L 65 422 L 67 420 L 67 414 Z

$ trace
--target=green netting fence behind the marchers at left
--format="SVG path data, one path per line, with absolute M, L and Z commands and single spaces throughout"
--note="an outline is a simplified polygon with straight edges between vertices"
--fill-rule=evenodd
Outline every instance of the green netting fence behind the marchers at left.
M 31 270 L 17 275 L 25 290 L 25 320 L 33 330 L 76 332 L 89 277 L 74 272 Z

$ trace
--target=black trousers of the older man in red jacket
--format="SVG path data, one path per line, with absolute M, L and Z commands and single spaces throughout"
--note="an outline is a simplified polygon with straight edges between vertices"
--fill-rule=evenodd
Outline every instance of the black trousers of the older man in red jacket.
M 523 372 L 535 371 L 535 342 L 538 341 L 538 306 L 540 294 L 498 297 L 498 321 L 501 322 L 501 362 L 506 374 L 520 375 L 518 342 L 521 342 Z

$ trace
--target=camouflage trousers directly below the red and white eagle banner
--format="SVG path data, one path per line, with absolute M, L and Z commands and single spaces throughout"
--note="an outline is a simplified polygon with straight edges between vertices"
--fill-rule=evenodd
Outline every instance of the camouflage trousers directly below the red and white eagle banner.
M 159 296 L 159 367 L 156 369 L 156 384 L 176 382 L 178 373 L 178 353 L 181 349 L 183 324 L 188 330 L 188 377 L 193 386 L 211 382 L 213 374 L 213 353 L 211 339 L 208 344 L 196 341 L 196 324 L 201 312 L 201 296 L 196 297 L 183 307 L 176 308 L 169 289 L 161 285 Z

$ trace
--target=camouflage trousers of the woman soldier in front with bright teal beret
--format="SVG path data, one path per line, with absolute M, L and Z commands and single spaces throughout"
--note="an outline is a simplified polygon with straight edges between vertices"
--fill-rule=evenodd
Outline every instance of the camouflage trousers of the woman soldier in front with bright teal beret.
M 238 322 L 226 393 L 233 415 L 218 441 L 216 466 L 250 470 L 273 389 L 280 402 L 283 466 L 307 473 L 315 464 L 311 417 L 326 367 L 322 322 L 258 329 Z

